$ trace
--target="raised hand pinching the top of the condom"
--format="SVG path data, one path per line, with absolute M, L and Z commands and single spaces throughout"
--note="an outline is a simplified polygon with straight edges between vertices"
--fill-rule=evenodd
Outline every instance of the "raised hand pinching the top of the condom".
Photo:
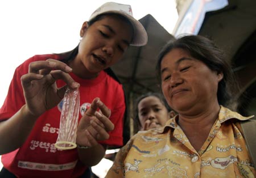
M 21 77 L 26 108 L 38 117 L 63 99 L 67 87 L 79 86 L 68 74 L 72 69 L 57 60 L 31 62 L 28 73 Z M 62 79 L 66 86 L 57 88 L 56 80 Z

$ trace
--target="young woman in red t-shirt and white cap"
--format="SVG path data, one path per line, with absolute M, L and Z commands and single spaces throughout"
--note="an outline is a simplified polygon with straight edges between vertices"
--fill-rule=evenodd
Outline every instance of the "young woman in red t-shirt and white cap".
M 36 55 L 16 68 L 0 109 L 1 177 L 89 177 L 108 146 L 122 146 L 125 96 L 109 67 L 129 45 L 145 45 L 147 33 L 130 5 L 107 2 L 82 24 L 80 37 L 69 52 Z M 59 150 L 68 87 L 80 90 L 77 148 Z

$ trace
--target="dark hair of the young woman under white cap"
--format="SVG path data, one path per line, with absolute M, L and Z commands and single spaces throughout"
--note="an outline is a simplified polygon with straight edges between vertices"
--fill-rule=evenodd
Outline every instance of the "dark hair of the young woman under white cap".
M 88 27 L 92 26 L 93 23 L 104 19 L 106 16 L 115 16 L 115 17 L 125 21 L 126 23 L 128 23 L 131 27 L 133 27 L 133 24 L 131 24 L 131 22 L 125 16 L 122 16 L 119 14 L 113 14 L 113 13 L 101 14 L 101 15 L 96 16 L 93 19 L 90 19 L 88 22 Z M 68 63 L 68 61 L 73 60 L 76 57 L 78 52 L 79 52 L 79 44 L 76 46 L 76 48 L 69 50 L 68 52 L 59 53 L 58 55 L 60 56 L 60 61 L 62 61 L 64 63 Z

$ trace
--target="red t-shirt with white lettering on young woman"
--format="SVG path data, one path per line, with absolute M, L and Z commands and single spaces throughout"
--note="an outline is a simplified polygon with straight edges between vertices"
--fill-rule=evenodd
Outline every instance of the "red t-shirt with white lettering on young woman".
M 33 61 L 48 58 L 58 60 L 55 54 L 34 56 L 15 70 L 9 92 L 0 109 L 0 121 L 13 116 L 25 104 L 20 77 L 28 72 L 28 65 Z M 100 143 L 104 145 L 122 146 L 123 115 L 125 113 L 125 96 L 122 85 L 101 71 L 95 79 L 81 79 L 71 73 L 71 77 L 80 83 L 80 116 L 90 106 L 92 100 L 100 98 L 112 114 L 110 120 L 115 128 L 110 138 Z M 63 86 L 62 80 L 57 86 Z M 77 149 L 57 150 L 54 144 L 57 139 L 62 101 L 38 118 L 26 142 L 19 149 L 2 155 L 3 167 L 18 177 L 78 177 L 86 167 L 79 161 Z

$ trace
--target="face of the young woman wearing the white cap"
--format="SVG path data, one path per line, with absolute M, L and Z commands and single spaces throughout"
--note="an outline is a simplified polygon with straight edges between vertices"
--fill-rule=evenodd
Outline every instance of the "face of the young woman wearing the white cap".
M 106 15 L 90 27 L 84 23 L 77 57 L 92 74 L 116 63 L 132 39 L 132 27 L 117 16 Z

